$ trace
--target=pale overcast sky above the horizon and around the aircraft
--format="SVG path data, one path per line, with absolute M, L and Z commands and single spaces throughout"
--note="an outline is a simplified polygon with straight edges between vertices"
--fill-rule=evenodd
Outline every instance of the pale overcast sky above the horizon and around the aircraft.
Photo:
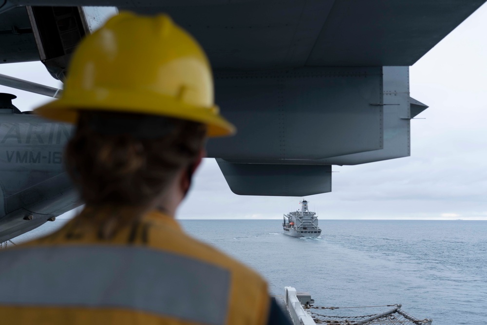
M 411 96 L 430 106 L 411 121 L 411 157 L 333 166 L 333 192 L 306 197 L 320 219 L 487 220 L 486 32 L 484 5 L 411 67 Z M 61 87 L 39 62 L 0 64 L 0 74 Z M 0 92 L 22 111 L 50 100 Z M 280 219 L 300 199 L 233 194 L 205 159 L 178 218 Z

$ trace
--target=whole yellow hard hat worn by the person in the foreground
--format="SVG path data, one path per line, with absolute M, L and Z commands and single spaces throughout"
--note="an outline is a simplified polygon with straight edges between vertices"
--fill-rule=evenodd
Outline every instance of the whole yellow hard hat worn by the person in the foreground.
M 203 49 L 167 15 L 122 12 L 81 41 L 61 98 L 36 113 L 75 123 L 80 110 L 164 115 L 206 124 L 208 136 L 235 133 L 214 103 Z

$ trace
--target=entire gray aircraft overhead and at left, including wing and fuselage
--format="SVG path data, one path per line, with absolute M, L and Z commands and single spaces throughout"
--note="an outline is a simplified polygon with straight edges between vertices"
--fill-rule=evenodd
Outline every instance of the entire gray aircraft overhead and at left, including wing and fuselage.
M 169 13 L 204 47 L 216 102 L 239 130 L 207 146 L 230 189 L 304 196 L 331 191 L 332 165 L 410 155 L 410 120 L 427 106 L 410 96 L 408 67 L 485 1 L 3 0 L 0 63 L 41 60 L 62 80 L 114 7 Z M 61 164 L 43 160 L 62 152 L 65 136 L 49 139 L 67 127 L 12 112 L 0 115 L 0 241 L 79 204 Z

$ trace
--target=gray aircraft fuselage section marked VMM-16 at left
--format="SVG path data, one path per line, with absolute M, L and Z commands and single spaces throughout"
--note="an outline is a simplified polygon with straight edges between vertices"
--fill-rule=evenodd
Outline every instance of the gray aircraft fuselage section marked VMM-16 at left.
M 0 242 L 81 204 L 63 167 L 72 129 L 0 105 Z

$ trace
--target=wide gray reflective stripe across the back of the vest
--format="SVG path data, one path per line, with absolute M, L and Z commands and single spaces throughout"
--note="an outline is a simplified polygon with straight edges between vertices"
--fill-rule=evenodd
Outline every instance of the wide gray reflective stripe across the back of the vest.
M 0 304 L 114 307 L 224 324 L 230 273 L 156 249 L 57 246 L 0 253 Z

